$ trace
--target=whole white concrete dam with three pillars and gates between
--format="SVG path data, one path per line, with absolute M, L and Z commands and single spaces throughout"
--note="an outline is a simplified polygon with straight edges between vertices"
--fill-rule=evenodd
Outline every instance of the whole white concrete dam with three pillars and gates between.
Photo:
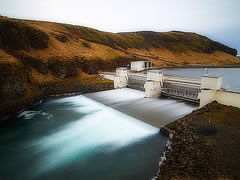
M 138 61 L 137 61 L 138 62 Z M 141 61 L 144 62 L 144 61 Z M 145 97 L 169 96 L 200 103 L 200 107 L 212 101 L 240 107 L 240 93 L 223 90 L 222 76 L 206 74 L 200 80 L 164 76 L 160 70 L 134 73 L 127 68 L 117 68 L 116 73 L 103 73 L 102 77 L 114 80 L 114 88 L 131 87 L 145 91 Z

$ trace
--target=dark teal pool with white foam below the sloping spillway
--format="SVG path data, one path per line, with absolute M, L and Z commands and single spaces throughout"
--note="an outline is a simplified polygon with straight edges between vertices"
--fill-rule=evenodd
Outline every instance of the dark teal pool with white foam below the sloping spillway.
M 84 96 L 52 98 L 0 126 L 0 179 L 146 179 L 167 137 Z

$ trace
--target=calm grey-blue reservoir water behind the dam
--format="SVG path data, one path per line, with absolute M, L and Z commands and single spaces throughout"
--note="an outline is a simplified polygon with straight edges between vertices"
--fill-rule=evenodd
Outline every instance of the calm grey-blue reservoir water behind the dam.
M 207 70 L 209 74 L 223 75 L 223 88 L 240 92 L 240 68 L 207 68 Z M 200 79 L 202 75 L 207 73 L 207 70 L 205 68 L 164 69 L 163 74 Z

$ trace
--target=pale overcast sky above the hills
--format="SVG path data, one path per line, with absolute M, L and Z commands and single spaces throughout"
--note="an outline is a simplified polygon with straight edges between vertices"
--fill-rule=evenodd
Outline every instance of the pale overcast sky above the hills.
M 240 0 L 0 0 L 0 14 L 108 32 L 197 32 L 240 54 Z

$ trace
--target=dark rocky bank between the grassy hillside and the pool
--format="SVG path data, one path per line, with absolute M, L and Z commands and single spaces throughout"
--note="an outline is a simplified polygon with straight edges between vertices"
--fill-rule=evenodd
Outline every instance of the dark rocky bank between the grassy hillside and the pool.
M 68 79 L 68 81 L 59 80 L 54 83 L 44 84 L 44 86 L 29 86 L 26 94 L 5 99 L 5 101 L 0 103 L 0 121 L 8 119 L 19 111 L 22 111 L 41 99 L 51 95 L 67 93 L 82 94 L 109 89 L 113 89 L 112 81 L 100 79 L 95 75 L 80 79 L 72 78 Z

